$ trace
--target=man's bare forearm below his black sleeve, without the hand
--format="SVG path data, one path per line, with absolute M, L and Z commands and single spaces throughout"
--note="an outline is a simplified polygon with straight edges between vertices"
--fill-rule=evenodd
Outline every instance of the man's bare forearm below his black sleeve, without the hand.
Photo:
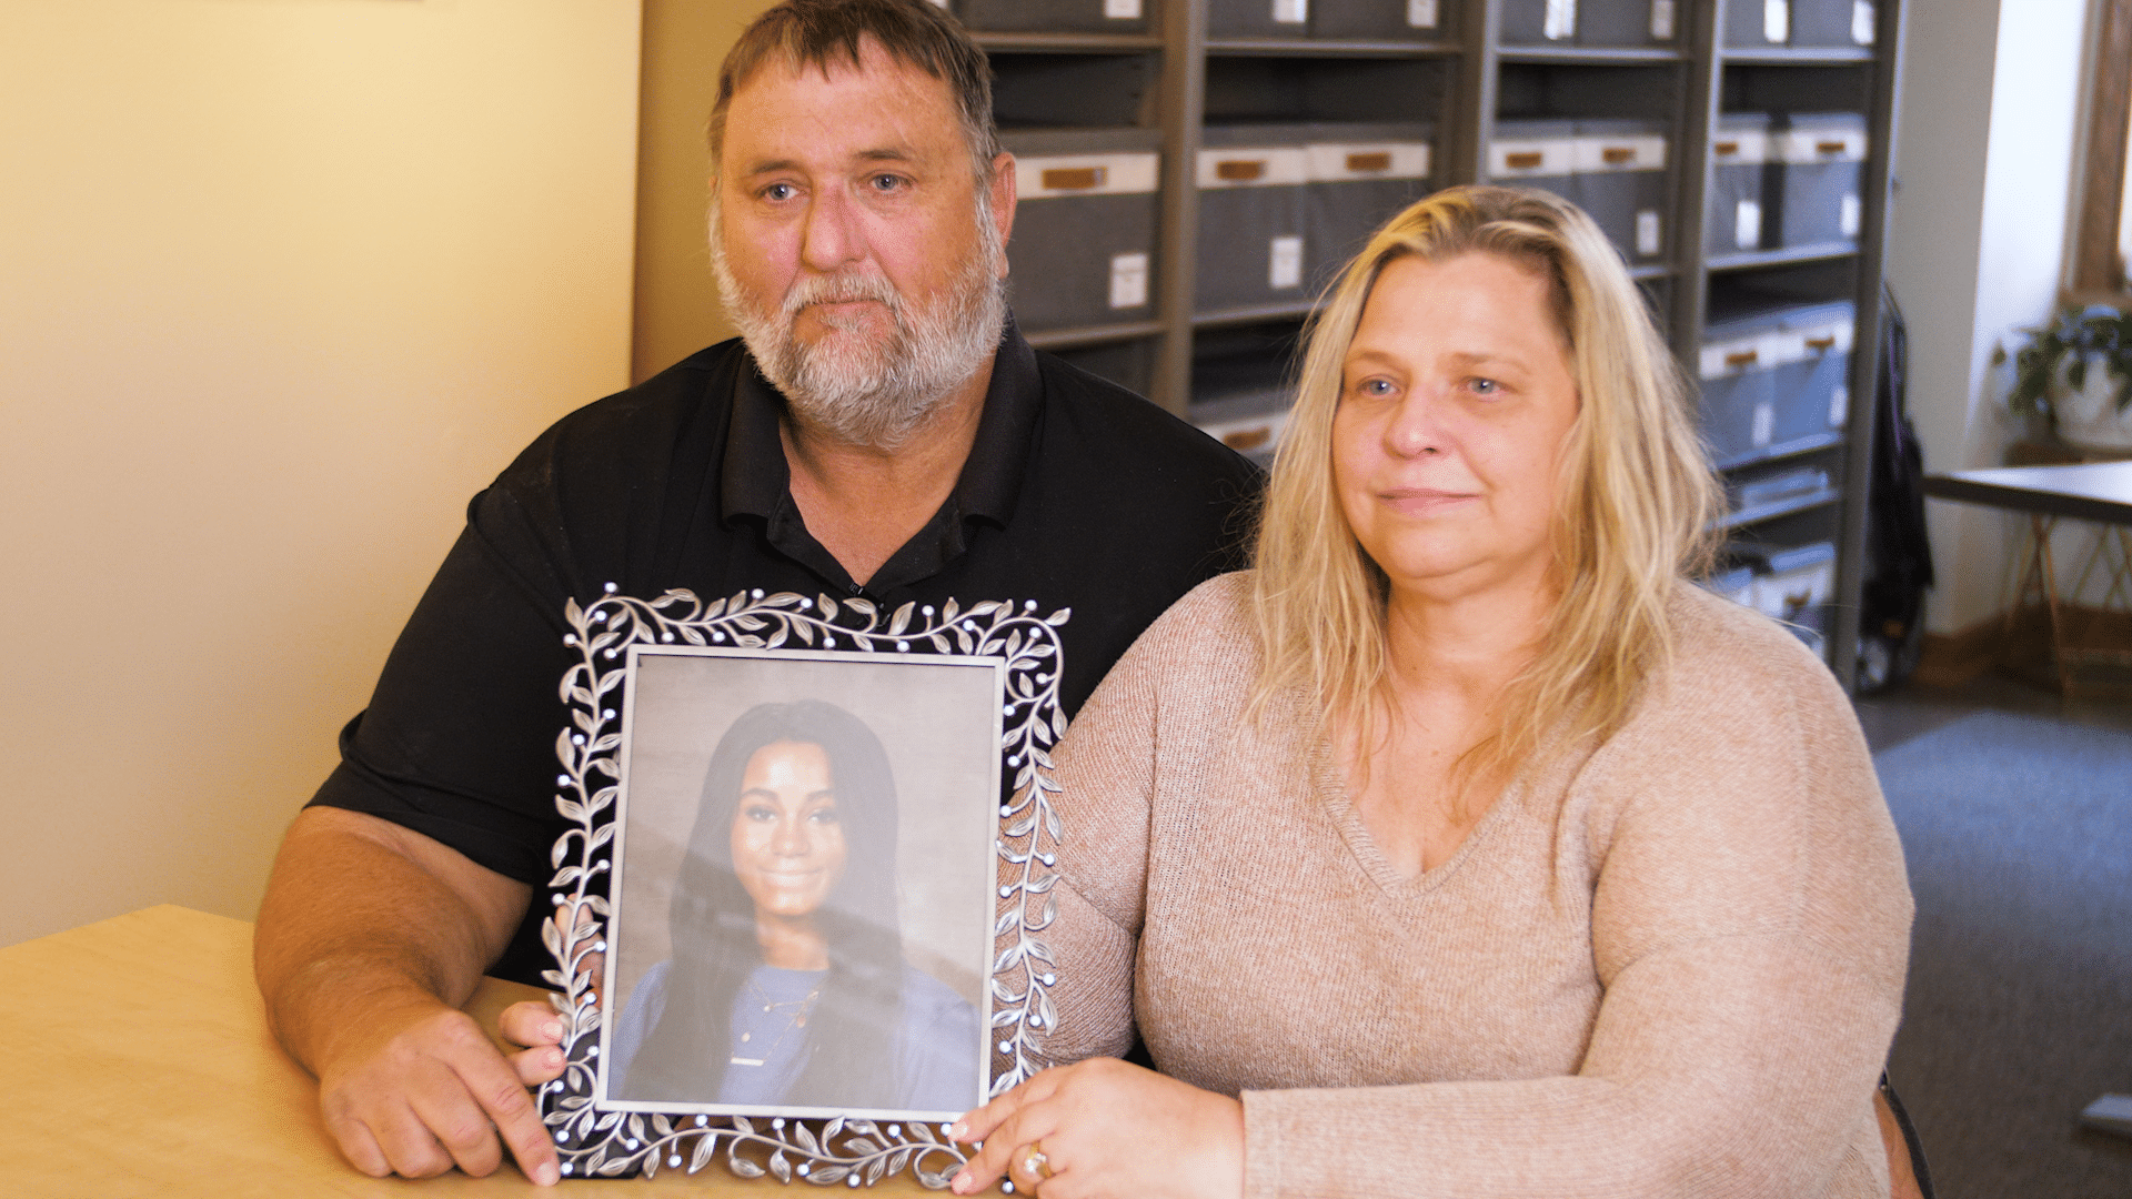
M 307 809 L 260 905 L 254 971 L 281 1045 L 318 1073 L 384 1011 L 463 1005 L 531 888 L 377 817 Z

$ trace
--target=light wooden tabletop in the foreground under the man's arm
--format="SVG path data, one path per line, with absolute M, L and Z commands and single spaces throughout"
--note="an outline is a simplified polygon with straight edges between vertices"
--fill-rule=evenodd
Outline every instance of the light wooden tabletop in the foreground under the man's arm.
M 318 1084 L 266 1033 L 252 984 L 252 926 L 151 907 L 0 949 L 0 1195 L 36 1199 L 286 1199 L 358 1195 L 554 1195 L 516 1169 L 422 1182 L 354 1171 L 326 1137 Z M 497 1013 L 542 992 L 484 979 L 467 1005 Z M 714 1163 L 699 1176 L 563 1182 L 603 1195 L 823 1195 L 746 1182 Z M 844 1190 L 838 1186 L 836 1190 Z M 908 1176 L 870 1195 L 944 1195 Z

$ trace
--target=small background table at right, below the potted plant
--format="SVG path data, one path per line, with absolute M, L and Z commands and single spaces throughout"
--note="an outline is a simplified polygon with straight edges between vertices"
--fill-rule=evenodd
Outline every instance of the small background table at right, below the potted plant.
M 2028 553 L 2019 591 L 2006 610 L 2006 629 L 2013 629 L 2032 597 L 2045 608 L 2060 693 L 2070 698 L 2083 687 L 2117 691 L 2132 685 L 2132 461 L 1951 471 L 1925 476 L 1923 491 L 1938 499 L 2028 516 Z M 2072 585 L 2079 595 L 2100 570 L 2100 610 L 2074 612 L 2060 602 L 2057 567 L 2051 561 L 2051 529 L 2060 518 L 2102 525 Z M 2109 678 L 2094 687 L 2085 683 L 2089 672 Z

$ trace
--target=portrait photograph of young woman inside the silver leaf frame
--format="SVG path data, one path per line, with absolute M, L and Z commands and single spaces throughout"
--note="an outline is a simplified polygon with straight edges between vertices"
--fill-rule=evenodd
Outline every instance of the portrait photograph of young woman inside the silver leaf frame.
M 985 1101 L 1004 664 L 633 646 L 597 1097 Z

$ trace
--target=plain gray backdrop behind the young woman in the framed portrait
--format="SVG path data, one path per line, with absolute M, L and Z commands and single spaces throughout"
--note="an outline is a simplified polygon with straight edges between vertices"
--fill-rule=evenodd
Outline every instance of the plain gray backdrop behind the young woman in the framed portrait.
M 998 672 L 921 657 L 819 659 L 644 653 L 623 747 L 627 862 L 618 866 L 612 1007 L 672 954 L 667 898 L 695 830 L 710 753 L 755 704 L 827 700 L 874 730 L 898 800 L 904 956 L 979 1013 L 991 966 L 991 856 L 998 834 Z

